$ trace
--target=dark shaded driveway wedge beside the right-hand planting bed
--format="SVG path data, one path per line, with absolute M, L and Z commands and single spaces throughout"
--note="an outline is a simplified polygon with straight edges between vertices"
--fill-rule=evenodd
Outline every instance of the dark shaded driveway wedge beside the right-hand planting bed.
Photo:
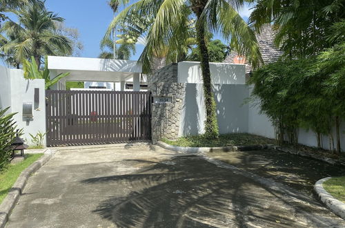
M 207 155 L 264 178 L 281 182 L 309 196 L 312 195 L 317 180 L 345 173 L 345 167 L 274 150 L 213 152 Z

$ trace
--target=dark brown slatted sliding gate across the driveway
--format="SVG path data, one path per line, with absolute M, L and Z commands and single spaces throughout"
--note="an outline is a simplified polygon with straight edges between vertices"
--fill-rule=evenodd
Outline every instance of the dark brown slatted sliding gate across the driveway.
M 47 145 L 151 139 L 150 92 L 46 91 Z

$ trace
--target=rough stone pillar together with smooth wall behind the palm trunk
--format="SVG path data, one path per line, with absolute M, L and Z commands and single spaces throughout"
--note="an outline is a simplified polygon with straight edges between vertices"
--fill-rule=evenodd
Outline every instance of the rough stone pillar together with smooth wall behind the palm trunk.
M 243 104 L 248 97 L 244 65 L 212 64 L 211 68 L 213 82 L 218 82 L 213 84 L 213 92 L 219 132 L 248 132 L 248 105 Z M 204 133 L 206 110 L 199 73 L 199 63 L 181 62 L 165 66 L 148 77 L 154 99 L 171 97 L 171 102 L 152 104 L 153 142 Z

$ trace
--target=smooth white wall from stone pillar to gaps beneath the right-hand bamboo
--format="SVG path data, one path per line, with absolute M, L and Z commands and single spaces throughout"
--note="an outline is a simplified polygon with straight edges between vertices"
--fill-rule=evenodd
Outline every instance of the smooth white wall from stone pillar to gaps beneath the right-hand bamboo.
M 245 67 L 242 64 L 210 64 L 213 92 L 217 103 L 219 133 L 251 133 L 275 138 L 272 122 L 259 113 L 259 106 L 245 104 L 251 88 L 246 86 Z M 178 64 L 177 82 L 186 84 L 186 95 L 181 110 L 179 136 L 204 133 L 206 111 L 199 62 L 183 61 Z M 345 151 L 345 123 L 340 132 Z M 335 137 L 335 133 L 333 134 Z M 299 129 L 299 143 L 317 146 L 313 131 Z M 329 149 L 328 135 L 322 137 L 324 149 Z

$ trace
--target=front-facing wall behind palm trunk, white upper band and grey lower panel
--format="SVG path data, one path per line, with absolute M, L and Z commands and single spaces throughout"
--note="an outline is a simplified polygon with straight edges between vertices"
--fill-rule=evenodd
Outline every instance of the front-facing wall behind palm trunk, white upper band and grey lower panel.
M 211 82 L 217 104 L 219 133 L 248 132 L 248 97 L 245 65 L 210 63 Z M 182 61 L 177 67 L 177 82 L 186 85 L 179 136 L 204 133 L 206 108 L 200 63 Z

